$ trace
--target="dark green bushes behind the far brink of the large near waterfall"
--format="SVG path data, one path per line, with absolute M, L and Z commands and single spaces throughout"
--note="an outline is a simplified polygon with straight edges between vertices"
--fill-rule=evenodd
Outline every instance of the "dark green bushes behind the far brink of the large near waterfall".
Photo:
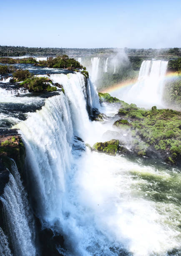
M 73 58 L 68 57 L 68 55 L 62 55 L 62 56 L 57 56 L 56 58 L 53 59 L 53 57 L 49 57 L 46 61 L 39 61 L 36 66 L 45 66 L 45 67 L 50 67 L 50 68 L 58 68 L 58 69 L 82 69 L 83 66 L 80 65 L 78 61 L 76 61 Z M 84 71 L 85 72 L 85 71 Z

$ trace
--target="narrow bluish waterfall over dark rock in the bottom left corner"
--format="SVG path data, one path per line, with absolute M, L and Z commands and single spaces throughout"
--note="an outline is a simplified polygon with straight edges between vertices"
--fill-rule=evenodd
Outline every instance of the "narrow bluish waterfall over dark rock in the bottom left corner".
M 5 185 L 4 193 L 0 197 L 5 212 L 5 224 L 8 227 L 13 254 L 34 256 L 36 250 L 33 242 L 33 221 L 28 206 L 27 194 L 13 159 L 12 162 L 11 170 L 13 174 L 10 173 L 10 180 Z

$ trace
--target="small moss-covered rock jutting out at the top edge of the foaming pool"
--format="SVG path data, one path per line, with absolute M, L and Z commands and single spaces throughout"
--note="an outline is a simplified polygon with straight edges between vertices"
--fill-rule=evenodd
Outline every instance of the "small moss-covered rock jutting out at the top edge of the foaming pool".
M 111 156 L 115 156 L 118 151 L 119 141 L 111 140 L 106 142 L 97 142 L 93 145 L 93 149 Z

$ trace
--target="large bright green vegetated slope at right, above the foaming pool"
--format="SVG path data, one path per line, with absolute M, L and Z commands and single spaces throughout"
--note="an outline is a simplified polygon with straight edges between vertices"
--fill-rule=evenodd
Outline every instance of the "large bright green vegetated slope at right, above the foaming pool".
M 165 161 L 176 162 L 181 159 L 181 113 L 169 109 L 151 110 L 127 105 L 118 111 L 121 119 L 114 125 L 130 129 L 133 136 L 133 150 L 138 155 L 148 155 L 159 151 Z M 122 119 L 123 118 L 123 119 Z M 126 123 L 125 120 L 128 120 Z M 170 157 L 173 161 L 170 161 Z

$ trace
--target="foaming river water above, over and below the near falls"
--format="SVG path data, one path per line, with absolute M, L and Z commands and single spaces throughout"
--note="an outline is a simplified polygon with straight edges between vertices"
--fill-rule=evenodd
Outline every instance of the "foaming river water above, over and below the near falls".
M 1 127 L 19 129 L 36 215 L 44 227 L 63 235 L 67 250 L 59 248 L 60 253 L 180 255 L 180 170 L 159 161 L 92 152 L 85 143 L 93 146 L 103 141 L 106 131 L 113 131 L 118 106 L 100 106 L 96 88 L 91 81 L 86 88 L 80 73 L 23 66 L 27 67 L 35 74 L 50 73 L 65 95 L 6 94 L 1 83 L 0 122 Z M 109 118 L 103 123 L 90 121 L 87 102 Z M 37 104 L 39 110 L 33 112 Z M 15 163 L 14 172 L 2 196 L 9 240 L 14 255 L 37 255 L 35 228 Z M 0 252 L 10 255 L 1 229 L 0 234 Z

